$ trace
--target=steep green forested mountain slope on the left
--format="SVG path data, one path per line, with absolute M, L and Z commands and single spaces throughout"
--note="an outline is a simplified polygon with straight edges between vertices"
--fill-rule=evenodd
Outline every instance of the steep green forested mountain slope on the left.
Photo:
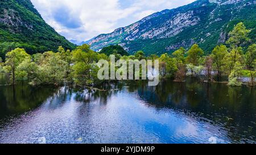
M 44 22 L 30 0 L 0 1 L 0 56 L 12 48 L 22 47 L 30 54 L 56 51 L 62 45 L 75 48 Z

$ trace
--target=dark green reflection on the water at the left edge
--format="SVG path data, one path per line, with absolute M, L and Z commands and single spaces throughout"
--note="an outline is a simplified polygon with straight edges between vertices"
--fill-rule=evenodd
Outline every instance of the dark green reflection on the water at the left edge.
M 57 90 L 55 87 L 31 87 L 26 84 L 0 86 L 0 119 L 38 107 Z

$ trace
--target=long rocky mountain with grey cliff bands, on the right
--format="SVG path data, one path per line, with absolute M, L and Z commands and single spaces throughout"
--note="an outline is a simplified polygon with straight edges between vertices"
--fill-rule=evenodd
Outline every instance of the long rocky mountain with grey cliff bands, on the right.
M 101 34 L 86 41 L 95 51 L 119 44 L 129 53 L 142 50 L 171 53 L 179 47 L 198 43 L 206 53 L 225 43 L 228 32 L 243 22 L 256 38 L 256 0 L 198 0 L 189 5 L 156 12 L 112 33 Z

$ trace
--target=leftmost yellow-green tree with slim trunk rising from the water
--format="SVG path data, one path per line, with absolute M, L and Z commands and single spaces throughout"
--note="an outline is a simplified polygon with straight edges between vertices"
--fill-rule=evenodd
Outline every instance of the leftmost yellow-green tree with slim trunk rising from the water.
M 16 48 L 11 52 L 6 53 L 5 71 L 10 75 L 12 84 L 15 84 L 16 68 L 24 60 L 31 59 L 31 56 L 22 48 Z

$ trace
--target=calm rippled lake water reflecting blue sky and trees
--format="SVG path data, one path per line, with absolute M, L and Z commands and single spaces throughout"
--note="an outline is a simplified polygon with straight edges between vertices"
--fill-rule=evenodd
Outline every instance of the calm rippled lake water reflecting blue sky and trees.
M 0 86 L 0 143 L 256 143 L 255 96 L 192 78 L 107 92 Z

